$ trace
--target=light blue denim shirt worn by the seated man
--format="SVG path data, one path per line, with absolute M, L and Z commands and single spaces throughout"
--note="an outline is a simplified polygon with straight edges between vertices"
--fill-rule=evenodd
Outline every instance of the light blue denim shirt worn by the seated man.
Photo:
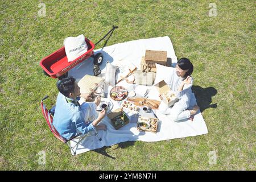
M 65 139 L 75 137 L 77 130 L 82 134 L 94 130 L 92 123 L 86 123 L 81 107 L 61 93 L 57 96 L 53 126 Z

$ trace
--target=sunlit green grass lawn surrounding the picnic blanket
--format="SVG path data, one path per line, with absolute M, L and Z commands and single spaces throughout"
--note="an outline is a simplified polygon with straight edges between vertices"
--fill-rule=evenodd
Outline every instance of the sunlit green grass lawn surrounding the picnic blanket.
M 40 2 L 46 16 L 38 15 Z M 217 16 L 209 16 L 210 2 Z M 0 21 L 1 170 L 256 169 L 255 1 L 2 1 Z M 43 75 L 39 61 L 64 38 L 84 34 L 95 43 L 113 24 L 119 28 L 108 46 L 169 36 L 176 56 L 192 61 L 207 135 L 125 142 L 77 156 L 53 137 L 40 100 L 48 94 L 47 105 L 55 103 L 56 80 Z M 46 165 L 38 163 L 40 151 Z M 210 151 L 216 164 L 209 164 Z

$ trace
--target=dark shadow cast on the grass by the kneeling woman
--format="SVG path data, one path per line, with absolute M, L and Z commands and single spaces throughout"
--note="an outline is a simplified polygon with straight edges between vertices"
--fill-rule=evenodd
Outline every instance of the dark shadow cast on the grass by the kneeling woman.
M 217 94 L 217 90 L 213 87 L 202 88 L 198 85 L 192 86 L 192 92 L 195 94 L 197 105 L 200 107 L 201 113 L 208 108 L 216 108 L 217 103 L 212 103 L 212 96 Z

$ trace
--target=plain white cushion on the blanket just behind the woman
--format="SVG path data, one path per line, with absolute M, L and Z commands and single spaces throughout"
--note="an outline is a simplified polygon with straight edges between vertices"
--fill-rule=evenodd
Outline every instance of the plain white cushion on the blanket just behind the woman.
M 164 82 L 166 82 L 166 84 L 170 84 L 171 77 L 173 75 L 175 68 L 165 67 L 160 64 L 155 64 L 155 66 L 156 66 L 155 84 L 158 84 L 162 80 L 164 80 Z

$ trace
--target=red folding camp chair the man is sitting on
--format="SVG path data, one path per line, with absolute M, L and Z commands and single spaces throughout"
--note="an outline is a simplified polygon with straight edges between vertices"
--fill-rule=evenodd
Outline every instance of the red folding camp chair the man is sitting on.
M 72 150 L 73 154 L 76 155 L 76 150 L 78 147 L 78 144 L 81 142 L 82 139 L 86 138 L 86 137 L 91 137 L 91 136 L 97 136 L 97 138 L 101 141 L 102 139 L 100 137 L 98 137 L 98 133 L 96 130 L 94 130 L 94 134 L 84 134 L 82 135 L 81 133 L 77 132 L 77 135 L 69 140 L 61 137 L 61 135 L 58 133 L 58 131 L 55 129 L 55 127 L 53 126 L 52 122 L 53 122 L 53 115 L 54 115 L 54 111 L 55 111 L 55 106 L 52 107 L 52 109 L 48 110 L 46 108 L 46 105 L 44 105 L 43 101 L 46 100 L 49 96 L 44 96 L 44 98 L 41 100 L 41 108 L 42 108 L 42 113 L 44 115 L 44 118 L 47 121 L 47 125 L 49 126 L 49 129 L 52 131 L 53 135 L 61 140 L 61 142 L 67 144 L 69 146 L 69 148 Z M 78 139 L 78 141 L 76 141 Z M 71 141 L 75 142 L 75 146 L 71 147 Z

